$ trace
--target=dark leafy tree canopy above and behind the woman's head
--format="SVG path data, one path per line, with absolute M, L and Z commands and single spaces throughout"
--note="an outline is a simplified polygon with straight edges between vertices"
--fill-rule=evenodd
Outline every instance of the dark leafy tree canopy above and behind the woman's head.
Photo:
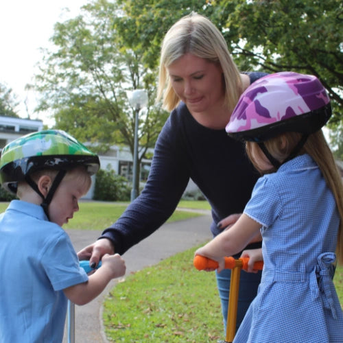
M 158 64 L 167 29 L 191 11 L 220 29 L 241 71 L 316 75 L 333 104 L 329 128 L 343 137 L 343 3 L 340 0 L 120 0 L 123 36 Z M 335 145 L 343 150 L 342 139 Z

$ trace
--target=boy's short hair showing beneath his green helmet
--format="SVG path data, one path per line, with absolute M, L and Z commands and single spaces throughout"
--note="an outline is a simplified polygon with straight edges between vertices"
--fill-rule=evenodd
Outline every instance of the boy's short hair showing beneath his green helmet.
M 38 182 L 39 178 L 43 175 L 47 175 L 51 178 L 51 180 L 54 180 L 57 174 L 58 174 L 58 170 L 44 169 L 44 170 L 36 171 L 30 176 L 34 182 Z M 73 178 L 73 180 L 75 181 L 80 180 L 80 185 L 82 185 L 83 194 L 86 194 L 91 188 L 91 183 L 92 183 L 91 175 L 88 173 L 86 167 L 84 167 L 83 165 L 75 167 L 73 169 L 69 169 L 67 173 L 65 174 L 64 178 L 62 178 L 61 182 L 63 182 L 64 180 L 70 180 L 71 178 Z M 18 196 L 18 198 L 21 199 L 23 198 L 24 194 L 27 193 L 27 191 L 32 191 L 31 186 L 29 186 L 27 182 L 25 181 L 18 182 L 16 196 Z

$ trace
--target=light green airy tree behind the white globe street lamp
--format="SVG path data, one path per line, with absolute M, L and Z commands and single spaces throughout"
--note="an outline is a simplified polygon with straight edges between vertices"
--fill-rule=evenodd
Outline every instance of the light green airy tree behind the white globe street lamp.
M 105 152 L 126 144 L 133 155 L 134 109 L 127 91 L 144 88 L 147 110 L 139 118 L 139 161 L 154 143 L 167 118 L 154 106 L 156 71 L 141 57 L 142 47 L 128 47 L 117 32 L 117 3 L 99 0 L 85 5 L 74 19 L 56 23 L 53 49 L 43 50 L 35 88 L 42 95 L 37 110 L 51 110 L 56 128 Z

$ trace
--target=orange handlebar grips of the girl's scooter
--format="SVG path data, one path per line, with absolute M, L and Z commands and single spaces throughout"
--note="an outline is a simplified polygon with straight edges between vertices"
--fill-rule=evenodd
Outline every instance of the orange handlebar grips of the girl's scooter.
M 241 269 L 243 270 L 248 270 L 248 261 L 249 261 L 249 257 L 241 257 L 239 259 L 234 259 L 233 257 L 225 257 L 225 269 L 233 269 L 235 267 L 241 267 Z M 213 261 L 213 259 L 209 259 L 201 255 L 196 255 L 196 257 L 194 257 L 193 264 L 194 264 L 194 267 L 196 267 L 196 269 L 198 270 L 218 268 L 217 261 Z M 255 262 L 254 269 L 262 270 L 263 261 Z

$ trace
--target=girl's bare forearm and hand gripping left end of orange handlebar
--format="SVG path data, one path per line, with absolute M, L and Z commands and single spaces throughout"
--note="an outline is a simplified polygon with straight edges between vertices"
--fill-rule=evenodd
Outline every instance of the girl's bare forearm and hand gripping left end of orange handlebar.
M 243 250 L 256 237 L 261 224 L 242 214 L 228 230 L 217 235 L 208 244 L 196 250 L 196 255 L 209 257 L 218 262 L 218 272 L 224 269 L 224 257 L 235 255 Z

